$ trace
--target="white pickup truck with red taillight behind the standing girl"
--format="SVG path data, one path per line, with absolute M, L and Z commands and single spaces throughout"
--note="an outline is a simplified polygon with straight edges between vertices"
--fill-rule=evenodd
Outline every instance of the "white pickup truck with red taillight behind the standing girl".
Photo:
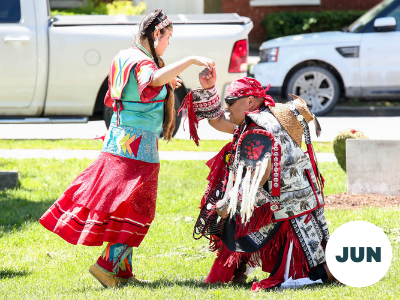
M 0 0 L 0 123 L 87 122 L 104 118 L 108 69 L 129 48 L 142 16 L 50 16 L 48 0 Z M 172 15 L 166 64 L 190 55 L 213 59 L 221 94 L 246 75 L 249 18 Z M 199 86 L 199 67 L 180 75 L 176 107 Z M 180 122 L 180 119 L 177 120 Z M 108 125 L 108 124 L 107 124 Z M 177 124 L 179 125 L 179 124 Z M 177 126 L 178 128 L 179 126 Z

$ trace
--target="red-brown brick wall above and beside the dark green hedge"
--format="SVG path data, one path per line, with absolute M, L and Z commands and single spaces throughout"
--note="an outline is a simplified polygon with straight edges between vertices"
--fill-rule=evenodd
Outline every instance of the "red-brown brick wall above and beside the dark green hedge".
M 222 0 L 222 12 L 238 13 L 251 18 L 254 28 L 249 34 L 252 48 L 258 48 L 264 41 L 266 30 L 261 21 L 272 12 L 279 11 L 321 11 L 321 10 L 368 10 L 382 0 L 321 0 L 321 5 L 305 6 L 250 6 L 250 0 Z

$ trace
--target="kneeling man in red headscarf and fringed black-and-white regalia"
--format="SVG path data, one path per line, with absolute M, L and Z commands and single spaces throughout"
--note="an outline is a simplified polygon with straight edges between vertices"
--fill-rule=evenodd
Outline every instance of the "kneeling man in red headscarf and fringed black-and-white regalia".
M 257 80 L 244 77 L 227 90 L 228 120 L 215 80 L 215 69 L 203 71 L 203 89 L 183 104 L 195 141 L 204 118 L 233 133 L 233 141 L 207 163 L 209 185 L 194 228 L 194 237 L 209 238 L 217 252 L 205 282 L 245 282 L 257 266 L 270 276 L 254 283 L 253 291 L 334 280 L 325 264 L 324 181 L 307 124 L 315 116 L 299 97 L 275 104 Z

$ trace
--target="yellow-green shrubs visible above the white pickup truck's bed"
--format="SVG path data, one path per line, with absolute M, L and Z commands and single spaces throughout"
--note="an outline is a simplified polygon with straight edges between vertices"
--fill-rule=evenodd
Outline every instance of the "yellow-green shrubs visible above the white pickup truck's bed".
M 141 15 L 146 10 L 146 4 L 140 2 L 134 6 L 132 1 L 114 0 L 111 3 L 104 3 L 88 0 L 88 4 L 79 8 L 64 10 L 52 10 L 51 16 L 55 15 Z

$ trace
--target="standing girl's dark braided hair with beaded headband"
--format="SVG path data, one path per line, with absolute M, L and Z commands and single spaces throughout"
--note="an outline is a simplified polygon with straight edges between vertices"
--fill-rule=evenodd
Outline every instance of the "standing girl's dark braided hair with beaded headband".
M 150 45 L 150 50 L 151 54 L 154 57 L 154 62 L 156 65 L 160 68 L 160 61 L 159 58 L 156 54 L 156 50 L 154 49 L 154 39 L 153 39 L 153 32 L 156 29 L 156 26 L 160 24 L 162 21 L 164 21 L 167 18 L 167 15 L 162 12 L 160 8 L 152 10 L 149 12 L 147 15 L 145 15 L 140 22 L 139 25 L 139 38 L 147 38 L 149 45 Z M 165 28 L 171 27 L 172 24 L 169 24 Z M 165 28 L 160 30 L 161 35 L 165 34 Z

